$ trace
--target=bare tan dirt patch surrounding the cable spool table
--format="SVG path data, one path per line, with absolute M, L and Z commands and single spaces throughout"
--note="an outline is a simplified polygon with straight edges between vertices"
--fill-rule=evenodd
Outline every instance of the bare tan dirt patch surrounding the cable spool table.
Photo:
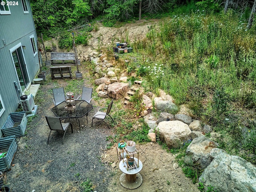
M 119 170 L 119 160 L 117 159 L 116 148 L 108 150 L 105 159 L 112 162 L 114 160 L 116 167 L 110 184 L 108 186 L 110 192 L 199 192 L 197 184 L 192 184 L 192 181 L 183 174 L 181 168 L 174 168 L 175 158 L 172 154 L 167 153 L 161 146 L 156 143 L 137 144 L 139 151 L 139 159 L 143 164 L 140 172 L 142 175 L 142 185 L 134 190 L 125 189 L 121 186 L 119 178 L 122 172 Z M 134 156 L 136 157 L 136 156 Z

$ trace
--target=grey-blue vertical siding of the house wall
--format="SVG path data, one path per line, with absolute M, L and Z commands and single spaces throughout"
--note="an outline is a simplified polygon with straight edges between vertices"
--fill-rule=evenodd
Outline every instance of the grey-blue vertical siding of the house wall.
M 21 0 L 18 0 L 18 6 L 9 6 L 11 14 L 0 14 L 0 95 L 5 107 L 4 113 L 0 116 L 0 128 L 3 126 L 9 113 L 16 111 L 19 102 L 14 86 L 14 81 L 19 82 L 19 79 L 17 78 L 10 49 L 18 44 L 26 46 L 26 49 L 21 47 L 21 50 L 23 51 L 29 77 L 27 88 L 29 88 L 39 70 L 38 51 L 34 55 L 30 42 L 31 35 L 34 35 L 34 40 L 35 42 L 37 41 L 36 30 L 30 3 L 28 0 L 26 2 L 28 14 L 24 14 Z M 5 40 L 6 45 L 4 45 L 2 39 Z M 1 135 L 2 132 L 0 132 Z

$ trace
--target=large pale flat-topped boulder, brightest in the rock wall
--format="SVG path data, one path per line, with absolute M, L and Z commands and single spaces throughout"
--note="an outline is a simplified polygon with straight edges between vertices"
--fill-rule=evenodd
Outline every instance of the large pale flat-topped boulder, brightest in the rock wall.
M 191 130 L 187 124 L 181 121 L 162 121 L 159 122 L 156 130 L 159 137 L 166 142 L 170 148 L 178 147 L 181 143 L 190 140 Z

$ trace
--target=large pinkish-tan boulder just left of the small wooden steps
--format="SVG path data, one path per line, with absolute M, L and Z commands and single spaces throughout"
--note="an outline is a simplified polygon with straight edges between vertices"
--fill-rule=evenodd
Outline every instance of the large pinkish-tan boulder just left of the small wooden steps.
M 128 91 L 128 83 L 115 82 L 108 86 L 108 96 L 119 99 L 123 98 Z

